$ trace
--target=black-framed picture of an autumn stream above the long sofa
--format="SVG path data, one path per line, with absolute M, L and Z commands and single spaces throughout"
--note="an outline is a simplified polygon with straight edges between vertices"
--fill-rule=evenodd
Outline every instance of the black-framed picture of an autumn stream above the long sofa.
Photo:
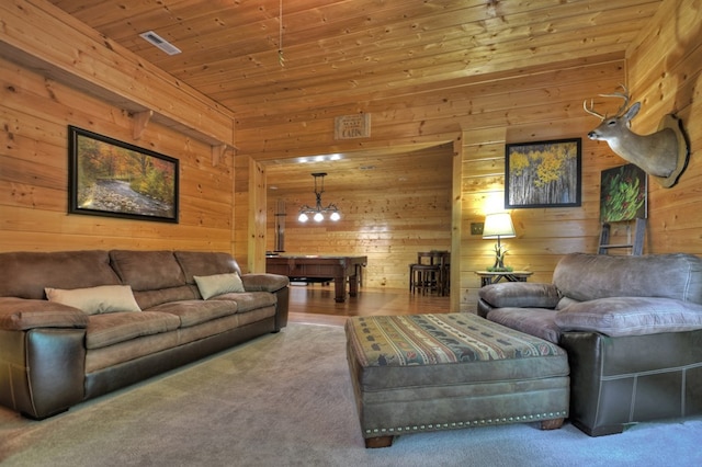
M 179 161 L 68 127 L 69 214 L 178 224 Z

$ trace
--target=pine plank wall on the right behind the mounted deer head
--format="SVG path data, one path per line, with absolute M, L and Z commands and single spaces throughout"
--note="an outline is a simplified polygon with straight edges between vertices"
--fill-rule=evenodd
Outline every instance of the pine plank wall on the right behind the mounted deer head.
M 690 140 L 688 168 L 663 189 L 649 180 L 646 247 L 654 253 L 702 254 L 702 8 L 693 0 L 664 2 L 647 34 L 627 50 L 632 102 L 642 110 L 632 129 L 649 134 L 664 115 L 682 119 Z

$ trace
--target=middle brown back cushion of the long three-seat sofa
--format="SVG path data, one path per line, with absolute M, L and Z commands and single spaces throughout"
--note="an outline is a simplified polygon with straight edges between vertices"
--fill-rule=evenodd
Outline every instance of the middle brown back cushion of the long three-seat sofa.
M 185 276 L 172 251 L 110 251 L 112 266 L 134 292 L 185 285 Z

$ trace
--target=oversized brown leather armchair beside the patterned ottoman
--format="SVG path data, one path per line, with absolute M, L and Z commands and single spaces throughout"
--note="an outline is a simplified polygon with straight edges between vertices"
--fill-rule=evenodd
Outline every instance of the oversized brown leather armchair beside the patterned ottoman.
M 573 424 L 591 436 L 702 413 L 702 260 L 574 253 L 552 284 L 479 291 L 478 315 L 568 353 Z

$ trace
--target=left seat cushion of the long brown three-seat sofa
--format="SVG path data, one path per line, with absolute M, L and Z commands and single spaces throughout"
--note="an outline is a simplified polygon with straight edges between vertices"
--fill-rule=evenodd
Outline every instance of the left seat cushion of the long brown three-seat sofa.
M 88 317 L 86 348 L 100 349 L 141 335 L 178 329 L 180 318 L 167 312 L 111 312 Z

